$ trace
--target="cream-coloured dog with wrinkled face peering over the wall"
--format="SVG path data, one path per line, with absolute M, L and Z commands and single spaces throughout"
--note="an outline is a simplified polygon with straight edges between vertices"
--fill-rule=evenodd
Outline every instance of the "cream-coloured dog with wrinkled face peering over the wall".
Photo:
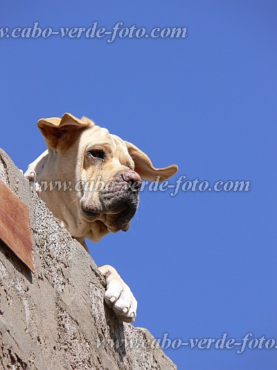
M 42 200 L 85 249 L 86 238 L 99 242 L 109 232 L 128 230 L 139 205 L 142 180 L 162 182 L 178 170 L 176 165 L 154 168 L 134 144 L 87 117 L 65 113 L 62 119 L 39 119 L 37 125 L 48 149 L 28 166 L 25 176 L 39 186 L 46 184 L 40 192 Z M 104 186 L 87 186 L 96 180 Z M 47 186 L 55 181 L 66 184 L 66 190 Z M 109 308 L 123 321 L 135 321 L 137 302 L 128 285 L 114 267 L 105 265 L 99 270 L 105 276 Z

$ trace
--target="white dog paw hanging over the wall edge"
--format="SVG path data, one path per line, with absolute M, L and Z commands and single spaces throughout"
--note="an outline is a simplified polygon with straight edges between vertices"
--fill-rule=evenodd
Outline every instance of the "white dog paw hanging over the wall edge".
M 99 267 L 100 272 L 106 278 L 105 302 L 116 316 L 129 323 L 136 320 L 137 301 L 131 289 L 120 278 L 114 267 L 105 265 Z

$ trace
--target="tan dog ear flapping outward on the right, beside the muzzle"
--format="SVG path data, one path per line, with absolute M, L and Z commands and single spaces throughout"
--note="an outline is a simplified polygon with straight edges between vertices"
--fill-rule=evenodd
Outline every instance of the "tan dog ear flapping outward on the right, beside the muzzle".
M 142 180 L 157 181 L 162 183 L 178 171 L 177 165 L 164 168 L 154 168 L 148 156 L 130 142 L 125 142 L 129 155 L 134 160 L 134 170 L 141 176 Z M 160 176 L 160 177 L 159 177 Z

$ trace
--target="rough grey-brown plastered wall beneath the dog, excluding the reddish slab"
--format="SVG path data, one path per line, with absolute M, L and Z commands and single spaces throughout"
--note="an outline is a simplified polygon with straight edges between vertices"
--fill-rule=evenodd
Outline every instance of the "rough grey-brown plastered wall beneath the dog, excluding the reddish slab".
M 33 274 L 0 240 L 0 369 L 177 369 L 104 305 L 95 262 L 1 150 L 0 180 L 28 205 L 35 260 Z

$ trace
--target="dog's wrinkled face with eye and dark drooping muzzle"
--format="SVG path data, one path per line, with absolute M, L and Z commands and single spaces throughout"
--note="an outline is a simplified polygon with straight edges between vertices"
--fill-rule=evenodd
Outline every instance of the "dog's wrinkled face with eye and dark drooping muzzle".
M 85 150 L 80 217 L 116 233 L 127 231 L 136 213 L 141 176 L 134 171 L 134 162 L 123 143 L 111 135 L 109 139 L 109 144 Z M 114 148 L 120 148 L 120 160 L 114 157 Z

